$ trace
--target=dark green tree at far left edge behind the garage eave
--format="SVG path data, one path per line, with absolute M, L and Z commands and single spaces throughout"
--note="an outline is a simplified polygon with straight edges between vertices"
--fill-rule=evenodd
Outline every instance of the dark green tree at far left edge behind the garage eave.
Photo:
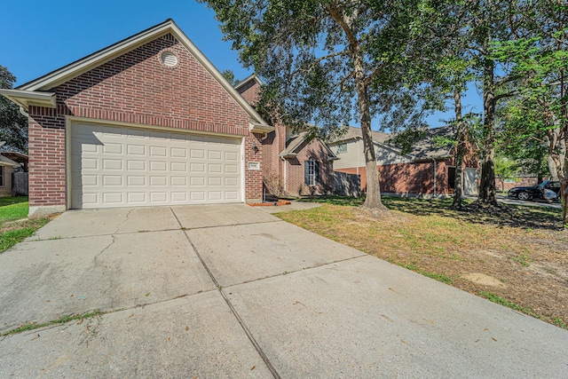
M 12 89 L 16 77 L 4 66 L 0 66 L 0 88 Z M 28 118 L 20 113 L 20 107 L 0 95 L 0 141 L 4 149 L 20 153 L 28 152 Z

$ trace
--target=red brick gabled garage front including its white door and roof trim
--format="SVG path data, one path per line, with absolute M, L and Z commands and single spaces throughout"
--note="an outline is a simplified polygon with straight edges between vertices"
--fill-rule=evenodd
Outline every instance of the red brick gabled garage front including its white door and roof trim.
M 0 94 L 28 112 L 30 217 L 262 201 L 274 128 L 173 20 Z

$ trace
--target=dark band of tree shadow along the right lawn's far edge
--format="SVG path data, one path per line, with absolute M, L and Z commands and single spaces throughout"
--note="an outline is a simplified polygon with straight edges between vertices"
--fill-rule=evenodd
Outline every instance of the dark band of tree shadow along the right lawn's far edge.
M 352 198 L 343 196 L 319 196 L 304 198 L 300 201 L 321 202 L 334 205 L 359 207 L 365 197 Z M 501 204 L 501 209 L 473 211 L 471 209 L 451 210 L 453 199 L 418 199 L 404 197 L 383 197 L 383 204 L 391 210 L 398 210 L 415 216 L 454 217 L 472 224 L 492 224 L 523 229 L 564 230 L 560 209 Z M 465 200 L 464 205 L 473 201 Z

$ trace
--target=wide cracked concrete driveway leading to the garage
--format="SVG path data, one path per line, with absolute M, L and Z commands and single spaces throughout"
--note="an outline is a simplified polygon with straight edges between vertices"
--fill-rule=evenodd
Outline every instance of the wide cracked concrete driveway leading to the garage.
M 0 377 L 568 377 L 568 332 L 244 204 L 68 211 L 0 255 Z

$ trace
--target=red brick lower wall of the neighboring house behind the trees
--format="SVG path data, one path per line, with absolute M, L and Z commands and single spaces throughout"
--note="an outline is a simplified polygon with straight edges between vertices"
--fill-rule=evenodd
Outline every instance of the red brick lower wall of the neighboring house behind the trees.
M 411 162 L 377 166 L 382 193 L 434 194 L 434 163 Z M 367 191 L 367 170 L 364 167 L 336 170 L 348 174 L 359 173 L 361 191 Z M 436 193 L 448 192 L 447 162 L 436 162 Z

